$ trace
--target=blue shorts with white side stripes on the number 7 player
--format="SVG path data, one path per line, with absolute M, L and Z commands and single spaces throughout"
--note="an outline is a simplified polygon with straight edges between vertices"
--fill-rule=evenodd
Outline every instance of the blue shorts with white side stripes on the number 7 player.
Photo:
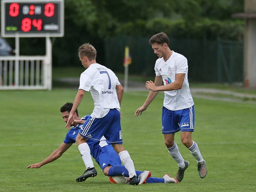
M 110 143 L 122 144 L 120 112 L 117 109 L 110 109 L 103 118 L 95 119 L 91 117 L 87 119 L 79 130 L 79 134 L 82 137 L 88 137 L 96 141 L 100 141 L 100 138 L 104 135 Z

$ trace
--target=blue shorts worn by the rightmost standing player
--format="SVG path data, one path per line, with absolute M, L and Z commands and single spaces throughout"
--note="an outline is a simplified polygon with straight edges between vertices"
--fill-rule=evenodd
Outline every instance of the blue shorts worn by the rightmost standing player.
M 171 111 L 163 106 L 162 133 L 173 134 L 178 131 L 194 131 L 195 109 L 194 105 L 187 109 Z

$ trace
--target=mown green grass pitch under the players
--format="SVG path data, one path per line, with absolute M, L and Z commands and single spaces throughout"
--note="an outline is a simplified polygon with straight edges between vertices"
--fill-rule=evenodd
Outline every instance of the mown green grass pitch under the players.
M 180 184 L 145 184 L 130 186 L 108 182 L 96 165 L 98 176 L 77 183 L 84 164 L 74 144 L 55 162 L 39 169 L 26 169 L 48 157 L 63 142 L 64 128 L 60 107 L 73 102 L 76 90 L 1 91 L 0 191 L 200 191 L 250 192 L 255 186 L 255 117 L 256 104 L 196 99 L 196 126 L 193 139 L 206 160 L 208 175 L 200 179 L 196 160 L 180 142 L 184 159 L 190 162 Z M 135 168 L 150 170 L 152 176 L 175 176 L 176 162 L 168 154 L 161 134 L 163 94 L 158 94 L 147 111 L 134 117 L 147 92 L 125 93 L 122 102 L 124 147 Z M 80 104 L 80 117 L 90 114 L 92 98 L 86 93 Z

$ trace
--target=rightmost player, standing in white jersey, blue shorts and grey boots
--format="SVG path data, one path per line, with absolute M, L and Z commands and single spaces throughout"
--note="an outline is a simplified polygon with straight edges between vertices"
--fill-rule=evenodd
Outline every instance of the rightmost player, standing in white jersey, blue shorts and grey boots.
M 158 92 L 164 91 L 162 133 L 168 152 L 179 165 L 176 178 L 180 182 L 189 166 L 189 162 L 184 161 L 177 144 L 174 142 L 174 135 L 178 131 L 181 131 L 181 142 L 196 158 L 199 176 L 204 178 L 207 174 L 206 164 L 191 136 L 195 125 L 195 111 L 188 85 L 187 58 L 170 50 L 169 38 L 165 33 L 153 35 L 149 43 L 154 53 L 159 57 L 155 64 L 156 78 L 155 82 L 146 82 L 146 89 L 150 90 L 148 98 L 135 111 L 134 116 L 141 115 Z M 163 82 L 164 85 L 162 85 Z

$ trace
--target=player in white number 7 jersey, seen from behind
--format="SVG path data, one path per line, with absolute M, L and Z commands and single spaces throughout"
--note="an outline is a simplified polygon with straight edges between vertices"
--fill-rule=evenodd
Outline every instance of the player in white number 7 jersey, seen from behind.
M 80 85 L 66 127 L 73 124 L 74 113 L 82 101 L 85 91 L 91 92 L 94 109 L 91 118 L 85 121 L 76 137 L 78 149 L 87 168 L 76 181 L 81 182 L 88 177 L 97 175 L 86 138 L 100 141 L 104 135 L 112 143 L 114 150 L 128 170 L 130 184 L 138 185 L 139 180 L 136 177 L 133 161 L 122 145 L 123 136 L 119 111 L 124 92 L 123 87 L 113 71 L 96 63 L 96 49 L 91 44 L 81 45 L 78 49 L 78 56 L 86 70 L 80 76 Z

